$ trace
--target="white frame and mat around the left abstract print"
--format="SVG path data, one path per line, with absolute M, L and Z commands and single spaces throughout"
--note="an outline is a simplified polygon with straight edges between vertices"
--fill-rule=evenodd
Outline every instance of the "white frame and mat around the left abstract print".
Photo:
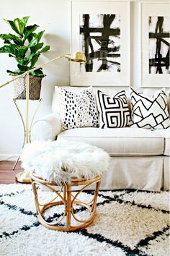
M 130 86 L 130 1 L 71 1 L 72 53 L 82 51 L 80 26 L 81 17 L 84 14 L 91 15 L 91 17 L 115 14 L 116 17 L 120 17 L 120 69 L 117 68 L 116 72 L 114 69 L 111 71 L 110 69 L 109 71 L 102 70 L 102 72 L 97 70 L 86 72 L 85 64 L 71 62 L 71 85 Z M 98 60 L 101 61 L 100 58 Z M 107 63 L 115 64 L 116 61 L 108 61 Z

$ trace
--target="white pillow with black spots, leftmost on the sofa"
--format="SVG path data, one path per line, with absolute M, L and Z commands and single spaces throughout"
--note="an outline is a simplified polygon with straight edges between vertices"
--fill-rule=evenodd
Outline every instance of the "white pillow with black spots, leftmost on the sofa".
M 57 91 L 63 131 L 79 127 L 99 126 L 99 115 L 92 87 L 80 93 L 72 93 L 63 88 L 57 88 Z

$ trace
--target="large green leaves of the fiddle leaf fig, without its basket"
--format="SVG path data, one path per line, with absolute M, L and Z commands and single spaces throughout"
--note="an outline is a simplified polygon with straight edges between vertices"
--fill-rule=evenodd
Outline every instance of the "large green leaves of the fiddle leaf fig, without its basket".
M 6 70 L 9 74 L 23 74 L 27 70 L 35 68 L 35 64 L 45 51 L 50 49 L 50 46 L 44 46 L 40 40 L 45 30 L 35 33 L 38 25 L 27 25 L 30 16 L 22 19 L 4 20 L 15 34 L 0 34 L 0 39 L 4 40 L 4 46 L 0 48 L 0 53 L 9 54 L 9 57 L 17 61 L 17 70 Z M 32 76 L 45 77 L 42 68 L 30 72 Z

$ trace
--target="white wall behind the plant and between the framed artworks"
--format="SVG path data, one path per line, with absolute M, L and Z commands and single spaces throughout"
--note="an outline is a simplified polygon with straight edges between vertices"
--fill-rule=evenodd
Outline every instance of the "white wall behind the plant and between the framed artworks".
M 147 1 L 147 0 L 146 0 Z M 160 1 L 160 0 L 159 0 Z M 131 12 L 131 86 L 140 87 L 139 63 L 139 0 L 130 4 Z M 30 16 L 28 24 L 40 25 L 40 30 L 45 30 L 44 42 L 50 45 L 50 51 L 40 56 L 38 64 L 70 52 L 71 13 L 70 0 L 6 0 L 0 9 L 0 33 L 9 33 L 9 27 L 3 21 L 13 20 L 16 17 Z M 12 31 L 10 31 L 12 33 Z M 1 46 L 1 42 L 0 42 Z M 15 61 L 9 59 L 7 54 L 0 54 L 0 85 L 11 80 L 6 74 L 6 69 L 16 69 Z M 55 85 L 69 85 L 69 64 L 66 59 L 53 62 L 44 69 L 45 77 L 42 80 L 42 104 L 37 118 L 50 113 L 50 103 Z M 119 88 L 120 89 L 120 88 Z M 155 90 L 158 90 L 155 89 Z M 0 89 L 0 159 L 12 160 L 21 150 L 23 142 L 22 122 L 12 101 L 12 83 Z M 31 103 L 35 109 L 36 103 Z

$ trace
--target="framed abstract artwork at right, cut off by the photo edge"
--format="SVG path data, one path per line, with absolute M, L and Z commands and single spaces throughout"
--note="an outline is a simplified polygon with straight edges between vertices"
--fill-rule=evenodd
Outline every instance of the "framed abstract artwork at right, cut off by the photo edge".
M 140 2 L 141 86 L 169 87 L 170 4 Z

